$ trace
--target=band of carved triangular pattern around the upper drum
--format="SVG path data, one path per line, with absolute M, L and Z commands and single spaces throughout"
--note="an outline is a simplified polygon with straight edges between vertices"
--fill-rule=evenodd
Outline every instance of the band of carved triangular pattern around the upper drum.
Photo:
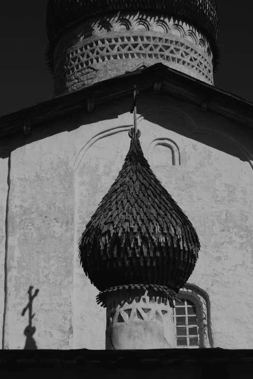
M 182 64 L 213 84 L 212 67 L 198 51 L 182 42 L 156 36 L 103 38 L 68 55 L 67 76 L 86 66 L 117 59 L 151 58 Z

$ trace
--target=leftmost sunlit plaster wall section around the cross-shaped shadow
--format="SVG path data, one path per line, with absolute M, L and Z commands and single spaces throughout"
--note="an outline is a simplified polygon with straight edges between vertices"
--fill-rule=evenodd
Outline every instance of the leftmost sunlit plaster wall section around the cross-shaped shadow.
M 38 349 L 72 346 L 73 170 L 67 135 L 25 145 L 11 156 L 5 349 L 24 349 L 30 286 Z

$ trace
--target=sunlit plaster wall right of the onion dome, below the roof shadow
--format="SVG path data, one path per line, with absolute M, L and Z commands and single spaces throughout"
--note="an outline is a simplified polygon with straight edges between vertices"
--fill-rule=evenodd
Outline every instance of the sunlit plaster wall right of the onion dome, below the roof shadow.
M 182 166 L 164 162 L 152 168 L 200 238 L 199 259 L 188 282 L 210 297 L 215 347 L 251 349 L 252 168 L 190 138 L 168 135 L 181 148 Z

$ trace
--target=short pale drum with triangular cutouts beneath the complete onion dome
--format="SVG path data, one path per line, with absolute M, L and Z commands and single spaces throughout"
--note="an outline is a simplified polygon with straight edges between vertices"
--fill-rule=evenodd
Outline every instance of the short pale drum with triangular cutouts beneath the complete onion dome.
M 173 308 L 153 288 L 110 292 L 106 317 L 106 349 L 176 347 Z

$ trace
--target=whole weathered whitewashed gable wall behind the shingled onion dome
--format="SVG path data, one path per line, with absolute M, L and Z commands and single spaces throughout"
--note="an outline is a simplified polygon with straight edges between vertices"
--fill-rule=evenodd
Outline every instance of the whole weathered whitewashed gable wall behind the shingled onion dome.
M 39 349 L 105 348 L 105 309 L 79 266 L 78 240 L 124 163 L 130 104 L 66 118 L 70 132 L 58 121 L 57 134 L 12 152 L 5 349 L 24 348 L 31 285 Z M 250 131 L 167 96 L 141 94 L 138 114 L 144 156 L 200 238 L 189 282 L 210 297 L 214 347 L 252 349 Z

